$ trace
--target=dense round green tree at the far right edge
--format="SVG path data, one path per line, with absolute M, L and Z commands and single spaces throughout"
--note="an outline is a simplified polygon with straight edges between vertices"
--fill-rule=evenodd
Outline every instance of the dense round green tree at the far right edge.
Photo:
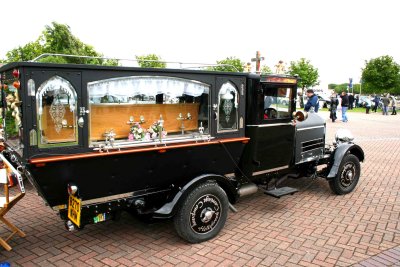
M 391 56 L 381 56 L 365 61 L 362 68 L 365 93 L 400 93 L 400 66 Z

